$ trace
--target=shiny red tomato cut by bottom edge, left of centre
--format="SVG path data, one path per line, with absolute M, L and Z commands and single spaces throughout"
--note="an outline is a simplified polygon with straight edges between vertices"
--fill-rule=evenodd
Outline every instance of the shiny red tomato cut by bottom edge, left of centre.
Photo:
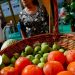
M 44 75 L 43 70 L 36 65 L 28 65 L 24 68 L 21 75 Z

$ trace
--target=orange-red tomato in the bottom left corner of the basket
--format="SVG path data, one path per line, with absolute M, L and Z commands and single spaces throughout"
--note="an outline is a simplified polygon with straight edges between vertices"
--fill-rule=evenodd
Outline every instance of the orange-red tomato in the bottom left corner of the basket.
M 17 75 L 15 68 L 10 66 L 1 69 L 0 73 L 0 75 Z

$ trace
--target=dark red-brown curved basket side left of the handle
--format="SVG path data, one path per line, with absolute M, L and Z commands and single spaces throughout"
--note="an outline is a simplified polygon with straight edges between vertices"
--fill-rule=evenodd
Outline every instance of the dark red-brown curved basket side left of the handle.
M 31 38 L 26 38 L 24 40 L 21 40 L 9 47 L 7 47 L 6 49 L 0 51 L 0 55 L 2 55 L 3 53 L 5 53 L 7 56 L 11 57 L 13 56 L 13 53 L 15 52 L 22 52 L 22 50 L 24 50 L 26 45 L 30 45 L 32 46 L 35 42 L 48 42 L 50 44 L 53 43 L 53 38 L 52 35 L 50 34 L 41 34 L 41 35 L 36 35 L 33 36 Z

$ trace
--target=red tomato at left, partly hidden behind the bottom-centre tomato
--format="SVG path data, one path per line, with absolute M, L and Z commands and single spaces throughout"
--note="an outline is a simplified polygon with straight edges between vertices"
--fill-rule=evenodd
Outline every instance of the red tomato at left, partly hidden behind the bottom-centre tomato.
M 15 62 L 15 70 L 20 75 L 24 67 L 30 64 L 32 64 L 31 61 L 26 57 L 19 57 Z

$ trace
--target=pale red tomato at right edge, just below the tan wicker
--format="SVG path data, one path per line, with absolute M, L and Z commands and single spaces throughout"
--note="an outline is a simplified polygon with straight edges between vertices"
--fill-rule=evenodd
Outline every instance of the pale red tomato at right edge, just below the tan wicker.
M 75 61 L 75 50 L 69 50 L 66 54 L 67 63 Z

